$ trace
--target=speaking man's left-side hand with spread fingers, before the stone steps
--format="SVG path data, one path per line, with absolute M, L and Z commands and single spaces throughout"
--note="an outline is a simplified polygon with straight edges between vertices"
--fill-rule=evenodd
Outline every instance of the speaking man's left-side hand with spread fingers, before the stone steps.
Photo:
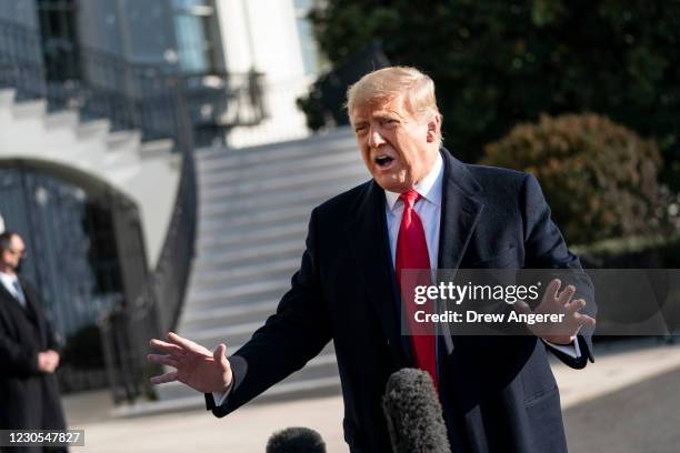
M 150 363 L 158 363 L 177 369 L 166 374 L 151 378 L 152 384 L 164 384 L 179 381 L 191 389 L 202 392 L 224 392 L 231 385 L 231 366 L 226 356 L 227 346 L 218 345 L 213 352 L 178 334 L 168 333 L 168 342 L 153 339 L 151 348 L 163 354 L 149 354 Z

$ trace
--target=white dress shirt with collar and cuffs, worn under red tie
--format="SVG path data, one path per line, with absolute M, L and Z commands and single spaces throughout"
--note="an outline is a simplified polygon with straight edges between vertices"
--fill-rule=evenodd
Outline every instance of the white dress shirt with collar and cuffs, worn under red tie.
M 432 170 L 422 179 L 414 189 L 420 194 L 421 199 L 416 203 L 413 210 L 418 213 L 428 243 L 428 255 L 430 256 L 430 268 L 437 269 L 439 256 L 439 225 L 441 219 L 441 198 L 443 187 L 443 159 L 441 154 L 437 155 L 437 161 L 432 165 Z M 384 214 L 387 217 L 388 233 L 390 236 L 390 252 L 392 255 L 392 269 L 397 261 L 397 239 L 399 236 L 399 226 L 401 224 L 401 214 L 403 213 L 403 201 L 399 200 L 400 193 L 384 191 L 387 203 Z M 550 348 L 563 352 L 573 359 L 581 356 L 579 342 L 573 341 L 571 344 L 553 344 L 548 341 L 543 342 Z M 217 405 L 222 405 L 227 395 L 226 392 L 214 392 L 212 397 Z

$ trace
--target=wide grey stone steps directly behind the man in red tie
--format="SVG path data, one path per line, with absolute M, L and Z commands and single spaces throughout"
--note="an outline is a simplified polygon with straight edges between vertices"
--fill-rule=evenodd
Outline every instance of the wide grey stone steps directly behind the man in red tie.
M 300 264 L 316 205 L 370 178 L 349 129 L 324 137 L 197 154 L 197 259 L 178 331 L 234 352 L 276 310 Z M 332 344 L 259 399 L 337 392 Z M 166 409 L 202 405 L 181 384 L 158 389 Z

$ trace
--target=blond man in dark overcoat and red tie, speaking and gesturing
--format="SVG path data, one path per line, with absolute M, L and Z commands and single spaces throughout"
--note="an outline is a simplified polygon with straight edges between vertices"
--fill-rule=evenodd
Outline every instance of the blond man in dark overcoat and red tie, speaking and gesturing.
M 579 270 L 534 178 L 467 165 L 441 148 L 432 80 L 386 68 L 348 91 L 348 111 L 373 179 L 313 210 L 307 250 L 277 313 L 229 359 L 173 333 L 149 360 L 177 369 L 223 416 L 299 370 L 331 339 L 342 382 L 344 435 L 353 452 L 389 451 L 380 407 L 389 375 L 428 371 L 439 389 L 456 452 L 566 451 L 559 393 L 546 348 L 573 368 L 592 360 L 587 280 L 538 312 L 564 314 L 568 330 L 538 336 L 402 335 L 396 276 L 408 269 Z M 402 288 L 403 290 L 403 288 Z M 594 313 L 590 303 L 589 313 Z M 213 393 L 210 395 L 210 393 Z M 216 401 L 213 401 L 213 399 Z M 216 403 L 217 402 L 217 403 Z

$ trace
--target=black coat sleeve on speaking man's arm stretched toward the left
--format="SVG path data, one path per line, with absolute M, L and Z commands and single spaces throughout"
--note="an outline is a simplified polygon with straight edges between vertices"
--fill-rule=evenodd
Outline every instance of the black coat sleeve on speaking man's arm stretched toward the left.
M 328 311 L 319 281 L 317 260 L 317 214 L 311 214 L 300 269 L 291 279 L 277 312 L 258 329 L 250 341 L 229 358 L 233 384 L 224 404 L 209 410 L 224 416 L 283 380 L 314 358 L 330 341 Z

